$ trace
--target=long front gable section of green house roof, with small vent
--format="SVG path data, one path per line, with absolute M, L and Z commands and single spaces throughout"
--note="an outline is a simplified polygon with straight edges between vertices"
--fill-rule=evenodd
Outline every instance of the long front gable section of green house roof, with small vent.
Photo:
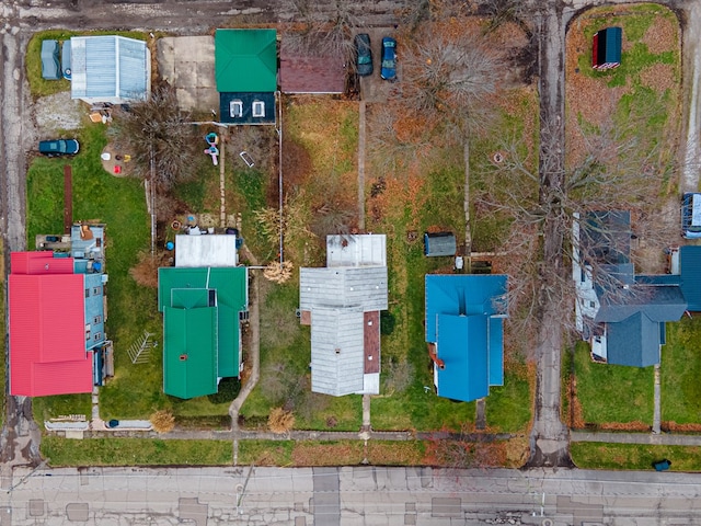
M 163 312 L 163 392 L 195 398 L 217 392 L 217 309 Z

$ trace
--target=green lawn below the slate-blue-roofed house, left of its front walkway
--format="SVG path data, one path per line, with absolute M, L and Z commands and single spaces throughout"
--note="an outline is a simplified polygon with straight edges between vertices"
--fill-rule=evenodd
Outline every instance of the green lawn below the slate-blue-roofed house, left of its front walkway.
M 640 421 L 652 425 L 652 367 L 594 363 L 588 345 L 579 342 L 575 350 L 575 375 L 586 423 Z

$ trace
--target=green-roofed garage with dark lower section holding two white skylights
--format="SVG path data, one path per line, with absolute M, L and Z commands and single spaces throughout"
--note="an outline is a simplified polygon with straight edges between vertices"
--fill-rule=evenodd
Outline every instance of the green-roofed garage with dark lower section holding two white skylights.
M 215 79 L 219 119 L 226 124 L 275 124 L 277 32 L 217 30 Z

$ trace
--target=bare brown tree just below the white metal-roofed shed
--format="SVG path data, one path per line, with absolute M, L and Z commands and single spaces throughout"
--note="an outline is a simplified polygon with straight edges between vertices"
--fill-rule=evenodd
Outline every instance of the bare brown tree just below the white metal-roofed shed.
M 110 136 L 118 149 L 130 152 L 137 176 L 152 178 L 168 190 L 194 175 L 196 151 L 204 145 L 188 121 L 177 106 L 175 90 L 161 83 L 147 101 L 116 112 Z

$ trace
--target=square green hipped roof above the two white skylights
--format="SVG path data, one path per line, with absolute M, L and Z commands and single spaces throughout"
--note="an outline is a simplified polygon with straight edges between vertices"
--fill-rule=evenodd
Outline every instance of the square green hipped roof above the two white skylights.
M 276 31 L 217 30 L 215 78 L 220 93 L 276 91 Z

